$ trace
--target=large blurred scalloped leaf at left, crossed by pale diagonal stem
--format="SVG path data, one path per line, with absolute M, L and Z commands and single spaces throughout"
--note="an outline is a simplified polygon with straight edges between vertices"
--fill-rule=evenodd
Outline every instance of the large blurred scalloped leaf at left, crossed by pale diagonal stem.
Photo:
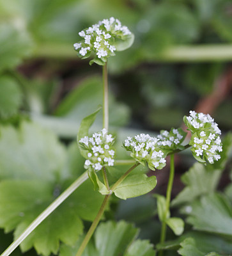
M 19 130 L 1 127 L 0 173 L 8 180 L 0 183 L 0 227 L 15 230 L 14 236 L 19 236 L 77 179 L 83 167 L 82 161 L 76 162 L 81 157 L 73 149 L 69 148 L 67 156 L 54 134 L 29 122 L 22 123 Z M 60 241 L 75 243 L 83 232 L 82 220 L 92 221 L 102 200 L 87 180 L 20 244 L 21 250 L 34 246 L 38 253 L 50 255 L 58 252 Z

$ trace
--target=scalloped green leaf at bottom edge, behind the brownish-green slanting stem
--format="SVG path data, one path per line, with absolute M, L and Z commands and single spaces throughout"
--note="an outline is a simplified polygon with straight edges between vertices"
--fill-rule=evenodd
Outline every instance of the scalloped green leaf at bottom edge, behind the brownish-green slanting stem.
M 82 255 L 155 256 L 153 245 L 147 240 L 135 240 L 137 234 L 138 229 L 125 221 L 101 223 Z M 59 256 L 75 256 L 82 239 L 83 237 L 72 247 L 62 244 Z

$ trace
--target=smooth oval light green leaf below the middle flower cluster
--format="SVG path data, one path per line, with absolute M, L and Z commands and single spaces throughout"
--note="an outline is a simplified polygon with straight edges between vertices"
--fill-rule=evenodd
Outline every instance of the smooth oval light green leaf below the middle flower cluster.
M 150 192 L 156 184 L 155 176 L 148 177 L 144 173 L 130 175 L 114 190 L 114 195 L 124 200 L 141 196 Z

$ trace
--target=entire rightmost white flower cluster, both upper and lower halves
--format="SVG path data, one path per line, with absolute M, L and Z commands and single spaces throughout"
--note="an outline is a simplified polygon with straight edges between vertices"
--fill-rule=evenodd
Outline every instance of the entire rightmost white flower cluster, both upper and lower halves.
M 189 145 L 194 157 L 200 161 L 213 164 L 220 159 L 222 152 L 221 131 L 218 124 L 210 115 L 190 111 L 190 116 L 185 116 L 184 121 L 193 133 Z

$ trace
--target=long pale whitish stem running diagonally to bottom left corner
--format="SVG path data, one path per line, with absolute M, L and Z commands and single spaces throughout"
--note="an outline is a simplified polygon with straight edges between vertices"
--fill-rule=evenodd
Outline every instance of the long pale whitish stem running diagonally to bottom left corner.
M 19 246 L 24 239 L 26 239 L 33 230 L 40 225 L 40 223 L 47 218 L 65 199 L 70 196 L 75 189 L 88 179 L 88 173 L 84 172 L 78 179 L 76 179 L 61 195 L 52 202 L 27 228 L 24 232 L 1 254 L 1 256 L 8 256 L 17 246 Z

